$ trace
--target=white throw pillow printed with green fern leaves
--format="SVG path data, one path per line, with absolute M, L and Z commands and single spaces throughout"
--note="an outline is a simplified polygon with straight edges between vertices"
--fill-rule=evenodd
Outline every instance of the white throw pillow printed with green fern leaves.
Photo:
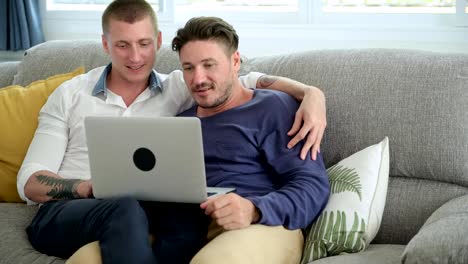
M 307 227 L 302 264 L 364 250 L 379 230 L 387 197 L 388 138 L 327 169 L 330 198 Z

